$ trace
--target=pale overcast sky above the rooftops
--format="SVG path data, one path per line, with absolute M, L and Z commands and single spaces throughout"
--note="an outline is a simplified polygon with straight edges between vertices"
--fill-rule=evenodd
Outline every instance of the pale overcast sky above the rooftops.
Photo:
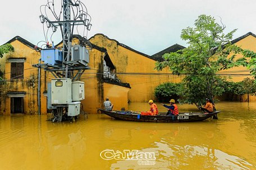
M 51 0 L 52 1 L 52 0 Z M 61 0 L 54 0 L 58 3 Z M 88 38 L 102 33 L 110 39 L 153 55 L 173 44 L 186 45 L 181 30 L 192 26 L 201 14 L 211 15 L 226 25 L 226 32 L 238 29 L 234 39 L 247 32 L 256 34 L 255 0 L 81 0 L 90 16 Z M 40 6 L 47 0 L 6 1 L 0 7 L 0 44 L 16 35 L 37 44 L 44 40 L 39 20 Z M 77 32 L 74 32 L 77 34 Z M 57 43 L 61 35 L 54 35 Z

